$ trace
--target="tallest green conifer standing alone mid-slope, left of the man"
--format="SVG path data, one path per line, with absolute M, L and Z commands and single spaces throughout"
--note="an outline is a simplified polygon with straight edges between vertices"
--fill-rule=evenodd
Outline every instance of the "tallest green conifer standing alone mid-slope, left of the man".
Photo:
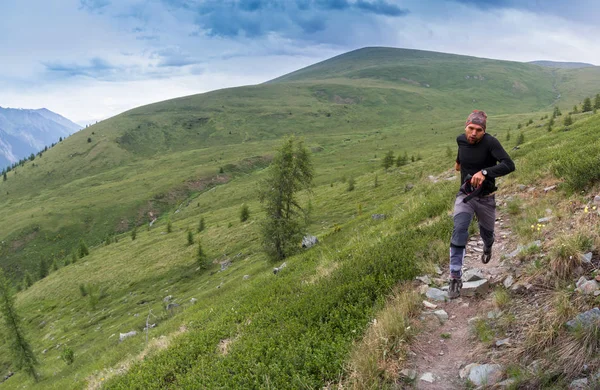
M 264 249 L 273 260 L 289 256 L 298 247 L 306 221 L 306 211 L 297 194 L 312 185 L 310 155 L 294 137 L 283 142 L 271 163 L 269 175 L 259 188 L 266 218 L 262 224 Z

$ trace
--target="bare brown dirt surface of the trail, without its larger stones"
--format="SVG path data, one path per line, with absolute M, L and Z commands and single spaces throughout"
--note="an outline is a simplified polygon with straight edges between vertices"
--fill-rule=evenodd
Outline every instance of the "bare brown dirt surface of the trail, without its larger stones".
M 497 203 L 500 202 L 501 200 L 497 199 Z M 509 252 L 507 243 L 510 242 L 511 232 L 508 222 L 505 215 L 497 212 L 496 241 L 492 260 L 488 264 L 483 264 L 480 260 L 483 242 L 478 235 L 470 237 L 463 273 L 466 270 L 477 268 L 483 272 L 484 277 L 490 283 L 496 284 L 502 281 L 508 272 L 500 263 L 502 254 Z M 447 267 L 443 271 L 441 277 L 447 280 Z M 422 317 L 423 329 L 412 343 L 412 358 L 407 365 L 407 368 L 413 369 L 417 373 L 413 388 L 465 389 L 466 380 L 459 378 L 460 369 L 470 363 L 490 363 L 485 351 L 478 348 L 468 321 L 494 309 L 491 292 L 492 289 L 480 298 L 460 297 L 447 302 L 428 300 L 437 305 L 435 310 L 446 311 L 448 320 L 444 324 L 440 324 L 435 315 L 428 314 Z M 425 311 L 429 310 L 424 308 Z M 433 375 L 433 382 L 421 379 L 426 373 Z

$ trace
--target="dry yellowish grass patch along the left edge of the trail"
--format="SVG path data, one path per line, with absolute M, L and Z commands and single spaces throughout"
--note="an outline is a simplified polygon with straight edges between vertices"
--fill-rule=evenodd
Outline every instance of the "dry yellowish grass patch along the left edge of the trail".
M 421 298 L 405 284 L 398 287 L 351 353 L 343 387 L 376 389 L 395 383 L 414 336 L 412 321 L 420 313 Z

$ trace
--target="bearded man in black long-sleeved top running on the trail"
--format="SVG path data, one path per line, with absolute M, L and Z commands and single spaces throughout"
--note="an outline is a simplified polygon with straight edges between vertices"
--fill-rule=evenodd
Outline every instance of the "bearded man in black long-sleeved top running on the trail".
M 496 221 L 496 178 L 515 170 L 515 164 L 500 142 L 485 132 L 487 115 L 475 110 L 467 118 L 465 133 L 456 138 L 458 156 L 455 169 L 460 171 L 461 190 L 454 203 L 454 230 L 450 242 L 450 288 L 448 296 L 458 298 L 462 288 L 462 264 L 473 214 L 479 221 L 483 239 L 481 261 L 492 257 Z

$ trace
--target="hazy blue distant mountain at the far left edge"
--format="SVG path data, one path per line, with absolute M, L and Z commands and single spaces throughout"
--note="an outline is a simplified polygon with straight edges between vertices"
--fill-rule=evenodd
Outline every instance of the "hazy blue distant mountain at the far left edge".
M 5 168 L 81 126 L 46 108 L 0 107 L 0 167 Z

